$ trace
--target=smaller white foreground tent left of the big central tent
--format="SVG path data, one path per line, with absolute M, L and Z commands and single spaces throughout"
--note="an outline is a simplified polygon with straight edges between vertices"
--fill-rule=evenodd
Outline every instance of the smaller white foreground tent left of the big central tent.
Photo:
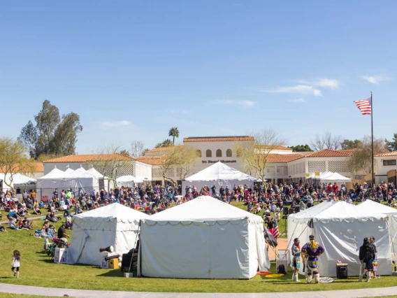
M 127 253 L 134 247 L 143 218 L 149 216 L 117 203 L 75 215 L 68 264 L 100 265 L 99 248 L 108 246 L 119 255 Z

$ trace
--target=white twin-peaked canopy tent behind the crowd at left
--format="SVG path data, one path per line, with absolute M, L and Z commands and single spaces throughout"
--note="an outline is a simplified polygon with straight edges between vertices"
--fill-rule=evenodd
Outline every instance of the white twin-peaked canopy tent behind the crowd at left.
M 51 199 L 55 188 L 58 189 L 58 193 L 66 189 L 72 189 L 77 193 L 82 188 L 90 194 L 93 190 L 99 190 L 99 178 L 80 167 L 70 173 L 55 168 L 47 175 L 37 179 L 38 198 Z

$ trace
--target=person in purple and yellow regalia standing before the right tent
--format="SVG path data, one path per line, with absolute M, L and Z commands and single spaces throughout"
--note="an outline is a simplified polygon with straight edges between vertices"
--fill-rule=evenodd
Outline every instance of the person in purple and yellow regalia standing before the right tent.
M 318 260 L 319 256 L 322 255 L 325 250 L 321 244 L 315 241 L 315 236 L 310 235 L 309 240 L 310 241 L 306 243 L 301 250 L 303 262 L 305 262 L 305 260 L 308 262 L 308 272 L 305 274 L 306 281 L 311 283 L 313 277 L 315 279 L 315 283 L 319 283 L 320 275 L 318 272 Z

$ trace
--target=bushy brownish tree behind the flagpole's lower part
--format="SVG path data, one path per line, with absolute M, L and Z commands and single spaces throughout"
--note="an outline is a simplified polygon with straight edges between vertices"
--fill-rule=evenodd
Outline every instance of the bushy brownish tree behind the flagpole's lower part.
M 354 171 L 354 173 L 364 172 L 366 174 L 372 172 L 372 148 L 371 148 L 371 137 L 364 136 L 359 143 L 359 146 L 354 150 L 349 159 L 349 168 Z M 387 143 L 384 139 L 373 140 L 373 154 L 381 154 L 384 152 L 389 152 L 387 148 Z M 375 166 L 375 164 L 374 164 Z

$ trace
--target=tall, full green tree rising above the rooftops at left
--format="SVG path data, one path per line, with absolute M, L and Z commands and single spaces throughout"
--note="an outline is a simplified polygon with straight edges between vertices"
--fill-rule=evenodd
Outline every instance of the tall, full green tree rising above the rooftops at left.
M 34 116 L 36 124 L 27 123 L 22 128 L 18 141 L 29 150 L 29 155 L 71 155 L 75 153 L 77 134 L 82 131 L 80 116 L 76 113 L 59 115 L 59 109 L 45 100 L 41 111 Z

